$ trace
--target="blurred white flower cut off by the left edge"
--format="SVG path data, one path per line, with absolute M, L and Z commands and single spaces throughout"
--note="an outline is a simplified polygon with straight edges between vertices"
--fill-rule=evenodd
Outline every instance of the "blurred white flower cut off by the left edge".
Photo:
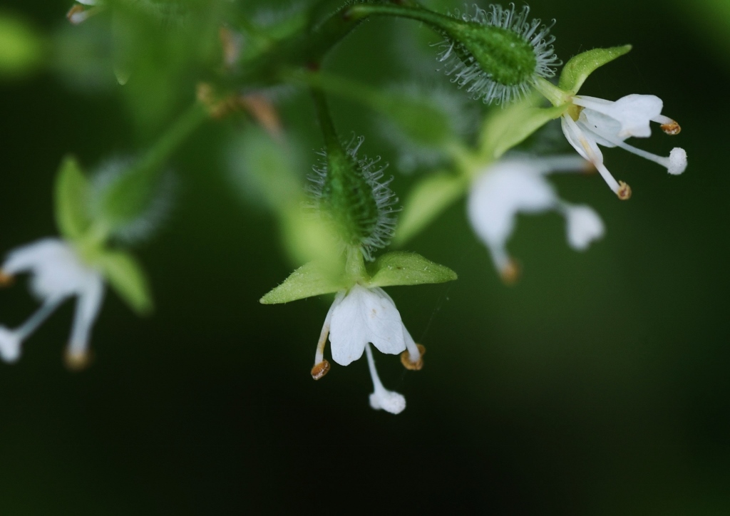
M 20 357 L 20 345 L 69 297 L 77 296 L 66 361 L 85 365 L 89 334 L 104 297 L 101 274 L 82 262 L 73 247 L 59 239 L 42 239 L 13 250 L 2 265 L 4 282 L 15 274 L 31 274 L 30 290 L 41 307 L 15 330 L 0 326 L 0 357 L 13 362 Z

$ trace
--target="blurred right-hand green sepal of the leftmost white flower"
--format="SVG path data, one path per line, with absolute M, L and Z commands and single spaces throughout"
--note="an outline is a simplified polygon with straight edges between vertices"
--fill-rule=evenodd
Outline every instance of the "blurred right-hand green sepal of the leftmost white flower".
M 132 255 L 123 251 L 104 251 L 94 257 L 94 265 L 131 309 L 139 315 L 152 312 L 147 277 Z

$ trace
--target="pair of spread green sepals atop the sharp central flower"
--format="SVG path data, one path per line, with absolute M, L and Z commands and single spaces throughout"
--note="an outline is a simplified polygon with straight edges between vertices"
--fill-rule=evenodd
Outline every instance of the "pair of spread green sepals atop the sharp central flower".
M 416 253 L 386 253 L 371 263 L 361 277 L 333 272 L 330 266 L 310 262 L 299 267 L 278 287 L 259 301 L 279 304 L 322 294 L 347 290 L 353 285 L 387 287 L 393 285 L 423 285 L 456 280 L 456 272 Z

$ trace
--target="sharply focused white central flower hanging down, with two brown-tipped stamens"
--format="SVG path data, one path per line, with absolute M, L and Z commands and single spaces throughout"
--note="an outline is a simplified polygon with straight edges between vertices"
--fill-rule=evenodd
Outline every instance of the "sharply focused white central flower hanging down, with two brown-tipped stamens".
M 401 362 L 408 369 L 420 369 L 423 366 L 425 349 L 413 341 L 391 296 L 382 288 L 365 288 L 361 285 L 337 293 L 325 317 L 317 345 L 315 366 L 312 368 L 315 380 L 319 380 L 329 370 L 329 362 L 323 355 L 327 336 L 331 342 L 332 359 L 341 366 L 356 361 L 363 351 L 366 352 L 374 385 L 374 393 L 370 395 L 372 408 L 383 409 L 391 414 L 399 414 L 405 409 L 405 398 L 385 389 L 380 382 L 369 346 L 372 343 L 381 353 L 390 355 L 401 353 Z

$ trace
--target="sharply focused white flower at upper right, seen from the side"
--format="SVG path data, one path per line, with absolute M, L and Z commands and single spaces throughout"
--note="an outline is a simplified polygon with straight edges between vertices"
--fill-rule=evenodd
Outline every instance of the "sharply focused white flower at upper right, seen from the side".
M 631 188 L 623 181 L 616 181 L 603 164 L 599 145 L 621 147 L 630 153 L 659 163 L 669 174 L 682 174 L 687 168 L 687 153 L 675 147 L 668 157 L 648 153 L 625 142 L 631 136 L 651 136 L 649 123 L 661 124 L 666 134 L 679 134 L 675 120 L 661 115 L 663 103 L 653 95 L 627 95 L 611 102 L 589 96 L 574 96 L 573 107 L 562 117 L 563 133 L 578 154 L 591 161 L 619 199 L 629 199 Z

